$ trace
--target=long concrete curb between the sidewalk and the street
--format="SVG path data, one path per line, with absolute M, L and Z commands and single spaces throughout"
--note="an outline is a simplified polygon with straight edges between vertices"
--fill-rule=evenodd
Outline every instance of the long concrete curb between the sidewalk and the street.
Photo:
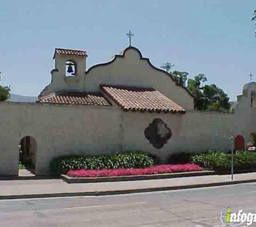
M 252 182 L 256 182 L 256 179 L 202 183 L 197 185 L 169 186 L 169 187 L 159 187 L 159 188 L 141 188 L 141 189 L 113 190 L 113 191 L 85 191 L 85 192 L 76 192 L 76 193 L 0 195 L 0 200 L 11 200 L 11 199 L 21 199 L 21 198 L 53 198 L 53 197 L 72 197 L 72 196 L 120 195 L 120 194 L 131 194 L 131 193 L 147 193 L 152 191 L 167 191 L 167 190 L 179 190 L 179 189 L 191 189 L 191 188 L 216 187 L 216 186 L 225 186 L 225 185 L 237 185 L 239 183 L 252 183 Z

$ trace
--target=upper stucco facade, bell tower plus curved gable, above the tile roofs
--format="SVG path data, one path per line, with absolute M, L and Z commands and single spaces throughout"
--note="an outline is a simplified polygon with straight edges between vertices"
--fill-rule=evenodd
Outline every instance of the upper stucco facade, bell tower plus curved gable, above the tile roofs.
M 69 56 L 58 56 L 56 68 L 52 70 L 51 83 L 41 91 L 39 97 L 59 91 L 100 92 L 102 84 L 154 88 L 186 110 L 192 110 L 193 96 L 180 86 L 164 70 L 153 66 L 148 58 L 135 47 L 128 47 L 107 63 L 92 66 L 85 72 L 78 67 L 76 76 L 65 76 L 65 62 Z M 85 58 L 75 56 L 79 66 Z M 74 58 L 74 56 L 73 56 Z M 85 65 L 85 64 L 84 64 Z M 85 72 L 85 73 L 84 73 Z

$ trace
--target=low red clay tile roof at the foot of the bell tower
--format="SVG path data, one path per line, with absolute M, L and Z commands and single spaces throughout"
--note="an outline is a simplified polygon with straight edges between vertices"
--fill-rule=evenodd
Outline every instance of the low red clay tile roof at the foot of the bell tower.
M 110 106 L 111 104 L 101 94 L 88 94 L 88 93 L 52 93 L 40 97 L 37 102 L 39 103 L 53 103 L 65 105 L 102 105 Z

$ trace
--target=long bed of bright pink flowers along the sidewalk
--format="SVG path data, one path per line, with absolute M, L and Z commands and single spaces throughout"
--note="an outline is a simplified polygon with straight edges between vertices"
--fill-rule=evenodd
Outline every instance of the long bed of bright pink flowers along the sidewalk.
M 179 165 L 158 165 L 147 168 L 130 168 L 130 169 L 78 169 L 70 170 L 67 175 L 73 178 L 95 178 L 100 176 L 129 176 L 129 175 L 146 175 L 159 173 L 180 173 L 202 171 L 203 168 L 195 164 Z

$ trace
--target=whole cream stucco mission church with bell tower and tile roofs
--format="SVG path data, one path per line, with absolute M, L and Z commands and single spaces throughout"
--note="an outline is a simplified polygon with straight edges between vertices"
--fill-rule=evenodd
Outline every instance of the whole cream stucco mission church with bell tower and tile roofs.
M 256 132 L 255 82 L 230 113 L 198 111 L 189 91 L 133 46 L 88 69 L 87 57 L 56 48 L 36 103 L 0 103 L 0 175 L 18 174 L 24 147 L 44 175 L 61 155 L 145 151 L 164 163 L 173 153 L 244 148 Z

